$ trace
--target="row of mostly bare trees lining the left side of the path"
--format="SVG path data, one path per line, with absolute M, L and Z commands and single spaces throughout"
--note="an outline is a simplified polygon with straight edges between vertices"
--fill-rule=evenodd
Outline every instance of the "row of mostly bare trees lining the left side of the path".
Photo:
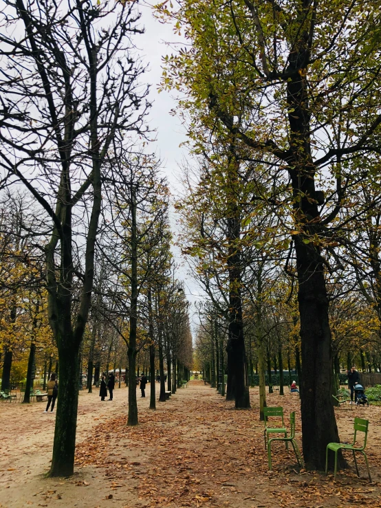
M 96 349 L 124 341 L 133 425 L 138 352 L 149 348 L 153 372 L 157 346 L 175 380 L 190 367 L 188 305 L 171 269 L 168 188 L 147 152 L 138 2 L 3 0 L 0 27 L 2 376 L 18 340 L 31 365 L 32 348 L 56 348 L 50 475 L 68 476 L 84 337 L 89 379 Z

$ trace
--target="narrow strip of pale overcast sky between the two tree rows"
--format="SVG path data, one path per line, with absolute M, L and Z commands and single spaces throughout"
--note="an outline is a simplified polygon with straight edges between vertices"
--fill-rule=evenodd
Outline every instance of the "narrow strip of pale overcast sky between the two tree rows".
M 179 145 L 186 140 L 186 133 L 179 119 L 170 114 L 171 109 L 177 107 L 172 94 L 166 91 L 157 93 L 157 87 L 162 75 L 162 56 L 171 52 L 171 48 L 166 43 L 181 41 L 181 39 L 173 34 L 171 25 L 157 21 L 149 7 L 143 5 L 141 9 L 142 23 L 146 31 L 144 35 L 136 38 L 136 44 L 141 49 L 142 58 L 149 64 L 149 72 L 145 76 L 146 80 L 151 83 L 150 98 L 153 101 L 150 126 L 151 129 L 156 129 L 155 151 L 162 160 L 163 172 L 168 178 L 171 192 L 176 195 L 179 190 L 179 163 L 187 155 L 186 148 L 180 148 Z M 172 211 L 171 222 L 174 232 L 176 232 L 175 217 Z M 186 297 L 194 303 L 195 300 L 199 300 L 198 294 L 201 291 L 196 281 L 188 274 L 188 267 L 180 256 L 179 250 L 174 247 L 173 252 L 176 263 L 182 264 L 182 267 L 179 267 L 177 271 L 177 277 L 184 280 Z M 192 321 L 193 325 L 197 323 L 195 316 L 192 317 Z

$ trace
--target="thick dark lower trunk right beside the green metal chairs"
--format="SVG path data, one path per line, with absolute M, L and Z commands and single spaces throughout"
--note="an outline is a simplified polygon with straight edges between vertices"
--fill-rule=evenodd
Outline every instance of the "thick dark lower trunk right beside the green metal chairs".
M 301 316 L 301 415 L 303 455 L 309 469 L 323 470 L 328 443 L 340 442 L 332 401 L 333 364 L 323 265 L 296 240 L 298 302 Z

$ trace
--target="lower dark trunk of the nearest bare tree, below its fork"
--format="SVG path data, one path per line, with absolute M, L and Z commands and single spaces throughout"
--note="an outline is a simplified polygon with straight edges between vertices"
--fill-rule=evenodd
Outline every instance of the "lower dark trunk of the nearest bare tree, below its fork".
M 50 476 L 71 476 L 76 448 L 79 348 L 74 345 L 61 348 L 59 356 L 60 378 Z

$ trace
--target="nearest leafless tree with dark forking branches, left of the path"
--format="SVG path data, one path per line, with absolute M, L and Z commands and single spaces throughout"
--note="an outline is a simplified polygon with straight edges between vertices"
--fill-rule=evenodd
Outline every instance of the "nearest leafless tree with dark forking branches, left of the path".
M 4 179 L 23 184 L 43 208 L 43 230 L 51 225 L 43 250 L 60 383 L 50 476 L 68 476 L 103 168 L 113 142 L 140 131 L 146 111 L 146 89 L 138 84 L 144 69 L 131 52 L 139 14 L 133 3 L 108 1 L 5 4 L 0 166 Z

